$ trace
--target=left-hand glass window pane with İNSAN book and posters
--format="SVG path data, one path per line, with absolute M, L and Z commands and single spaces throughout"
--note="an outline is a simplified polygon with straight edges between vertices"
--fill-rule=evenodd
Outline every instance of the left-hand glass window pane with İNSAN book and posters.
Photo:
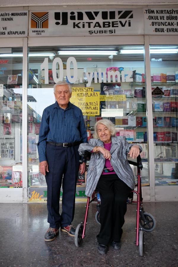
M 1 48 L 0 187 L 4 188 L 22 187 L 22 62 L 22 48 Z

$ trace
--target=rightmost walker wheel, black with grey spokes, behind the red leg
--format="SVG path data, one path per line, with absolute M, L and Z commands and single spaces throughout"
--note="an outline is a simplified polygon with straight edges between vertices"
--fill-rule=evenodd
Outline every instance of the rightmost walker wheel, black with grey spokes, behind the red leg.
M 139 224 L 140 227 L 147 232 L 151 232 L 156 227 L 156 220 L 150 213 L 143 212 L 144 219 L 140 216 Z

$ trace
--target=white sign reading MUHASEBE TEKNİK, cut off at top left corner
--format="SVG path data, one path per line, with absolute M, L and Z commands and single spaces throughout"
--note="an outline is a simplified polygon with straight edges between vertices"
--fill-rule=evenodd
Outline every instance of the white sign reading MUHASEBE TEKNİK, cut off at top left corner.
M 28 36 L 28 10 L 0 12 L 0 37 L 26 36 Z

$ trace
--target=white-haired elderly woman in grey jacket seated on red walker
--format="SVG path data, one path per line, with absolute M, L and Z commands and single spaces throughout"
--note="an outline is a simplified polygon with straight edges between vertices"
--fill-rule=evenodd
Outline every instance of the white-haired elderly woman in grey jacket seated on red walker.
M 107 119 L 96 122 L 94 128 L 94 138 L 80 144 L 78 151 L 80 155 L 91 152 L 85 194 L 91 197 L 96 188 L 99 190 L 101 228 L 97 235 L 98 251 L 106 254 L 110 243 L 115 249 L 120 249 L 126 201 L 135 187 L 127 154 L 134 159 L 142 148 L 116 136 L 114 124 Z

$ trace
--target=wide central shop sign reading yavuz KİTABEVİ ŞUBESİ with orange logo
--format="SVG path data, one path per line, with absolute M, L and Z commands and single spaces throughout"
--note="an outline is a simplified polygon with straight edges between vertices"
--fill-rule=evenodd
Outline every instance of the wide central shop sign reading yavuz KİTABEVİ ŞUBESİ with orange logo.
M 102 36 L 143 34 L 143 9 L 31 11 L 29 36 Z

